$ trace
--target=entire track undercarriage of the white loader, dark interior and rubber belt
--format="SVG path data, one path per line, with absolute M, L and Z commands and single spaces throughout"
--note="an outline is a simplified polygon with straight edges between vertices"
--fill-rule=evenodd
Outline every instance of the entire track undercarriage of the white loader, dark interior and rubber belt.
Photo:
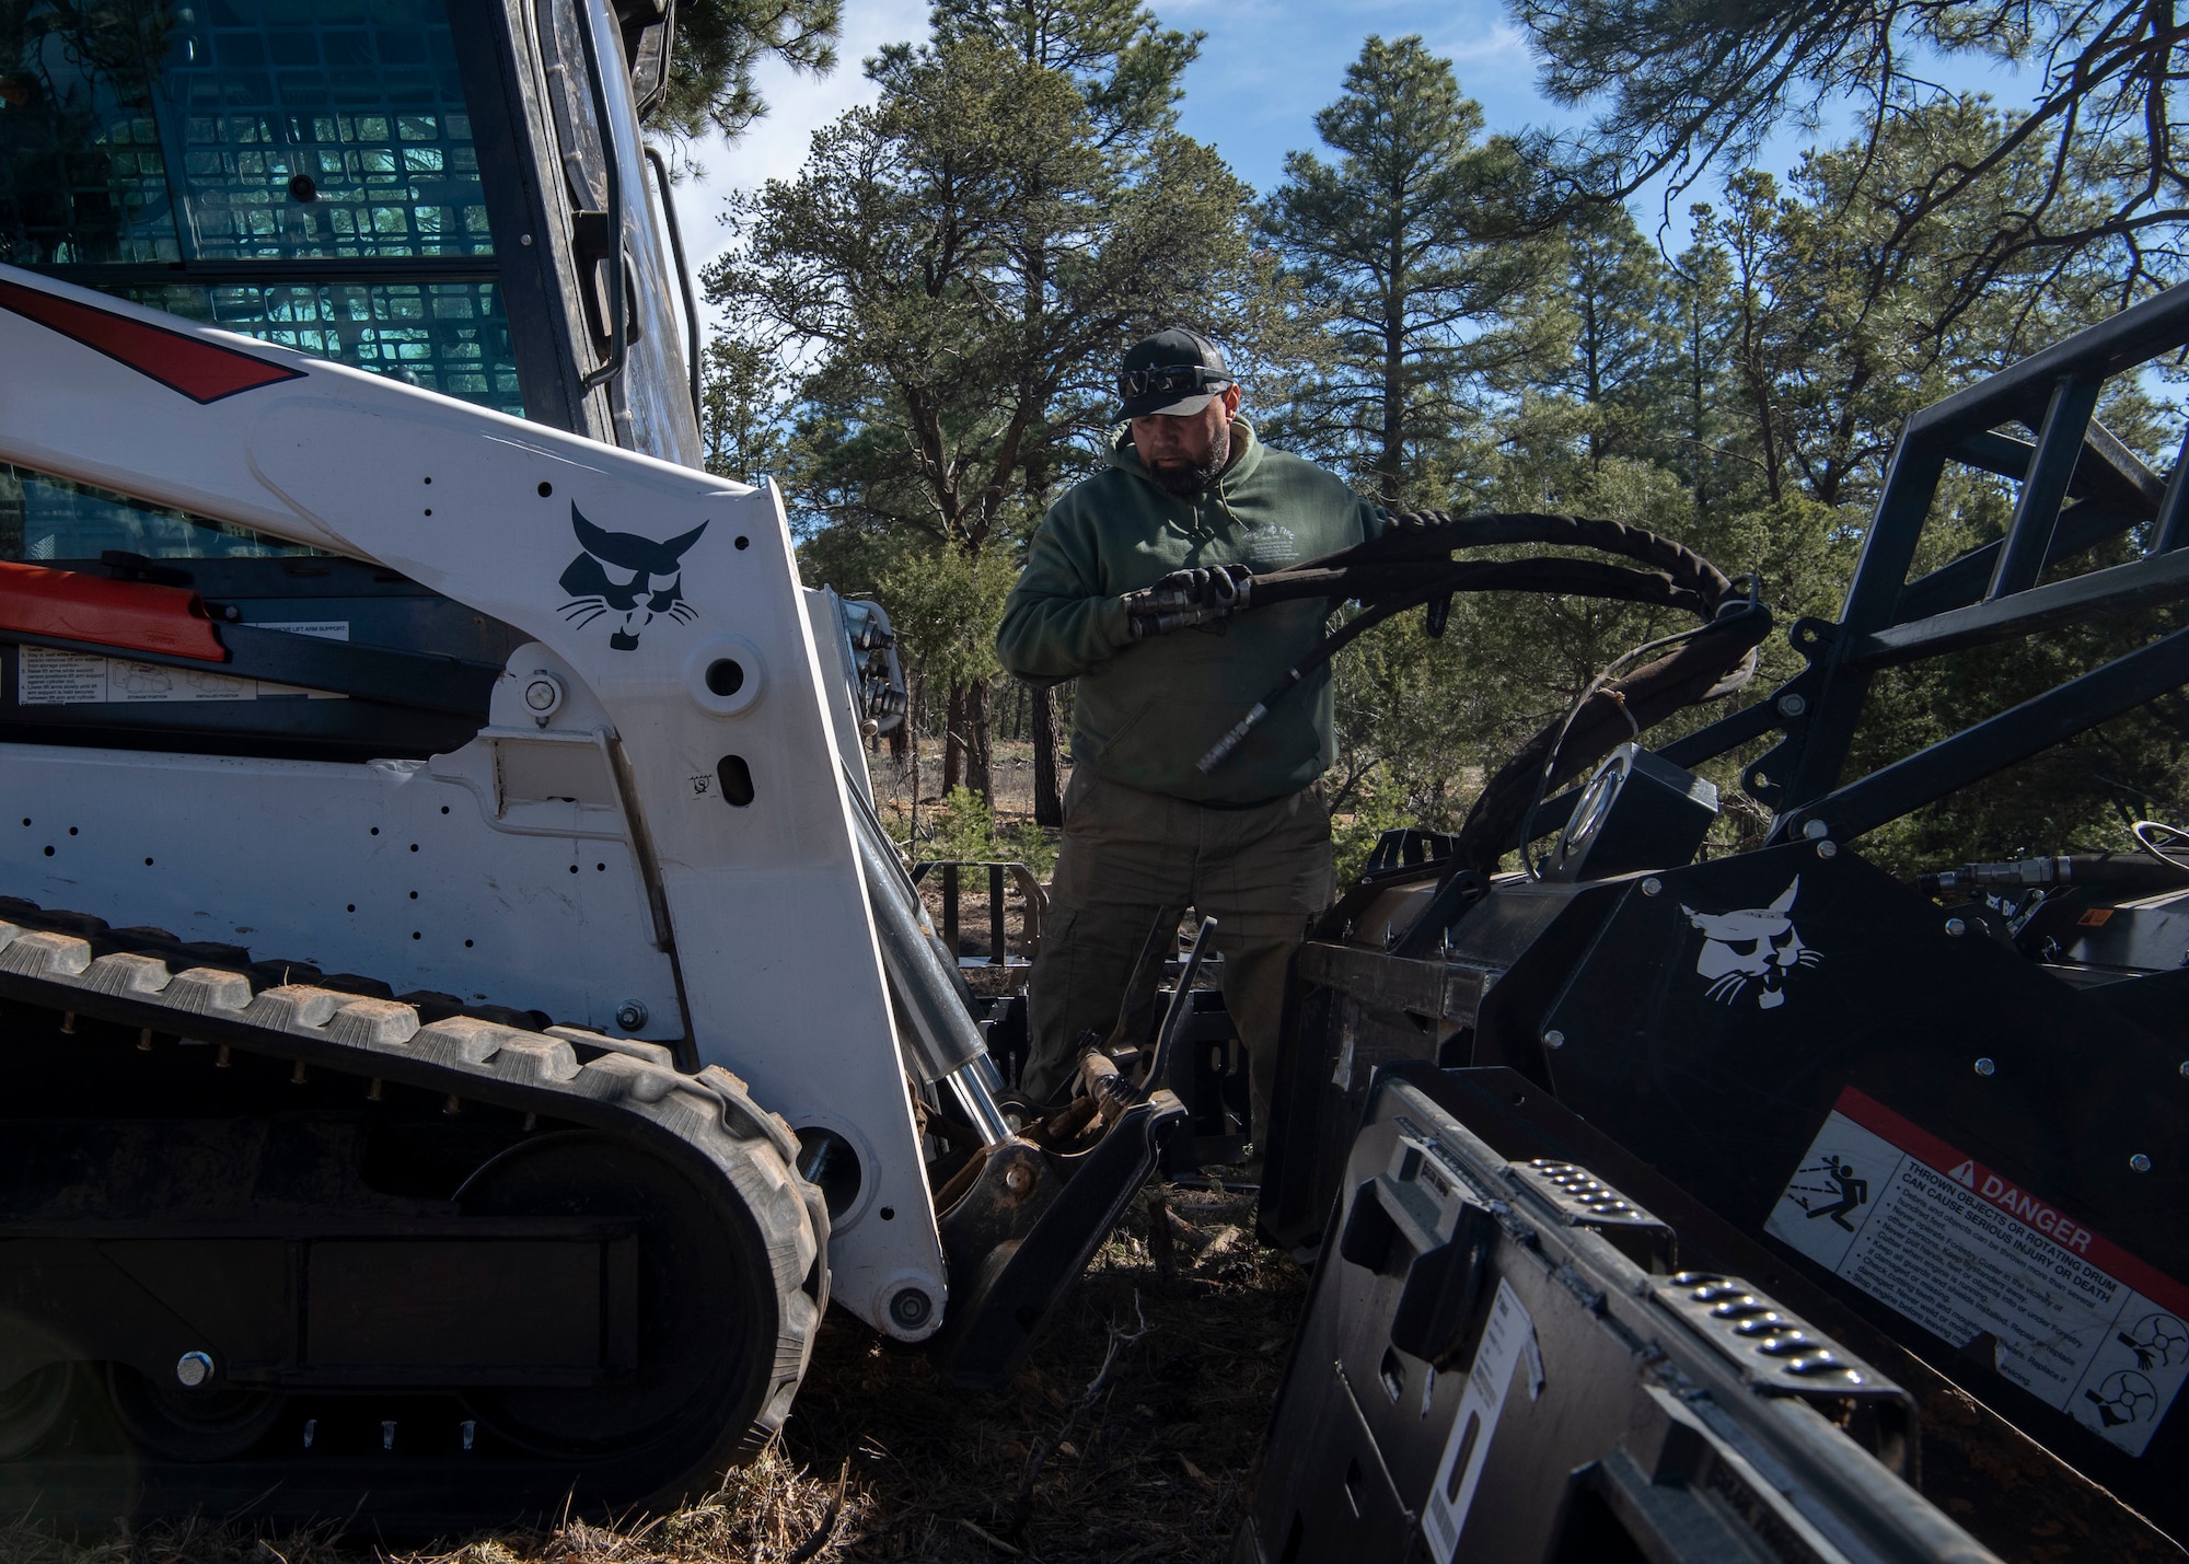
M 827 1216 L 733 1076 L 4 911 L 9 1505 L 506 1522 L 781 1422 Z

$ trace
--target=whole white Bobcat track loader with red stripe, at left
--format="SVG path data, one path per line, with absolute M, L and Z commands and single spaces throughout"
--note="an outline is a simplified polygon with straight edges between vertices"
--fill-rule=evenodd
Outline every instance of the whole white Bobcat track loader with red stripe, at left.
M 59 206 L 0 193 L 7 1503 L 674 1496 L 779 1426 L 830 1301 L 996 1384 L 1184 1115 L 1007 1119 L 871 808 L 884 622 L 799 585 L 773 486 L 687 464 L 635 114 L 665 18 L 383 11 L 269 92 L 368 57 L 387 101 L 256 142 L 225 61 L 304 59 L 271 7 L 144 9 L 140 103 L 22 44 L 79 140 Z M 164 217 L 85 195 L 127 195 L 138 107 Z M 422 145 L 440 184 L 372 184 Z M 278 223 L 215 221 L 260 186 Z M 418 239 L 473 197 L 477 243 Z M 346 199 L 407 248 L 337 243 Z

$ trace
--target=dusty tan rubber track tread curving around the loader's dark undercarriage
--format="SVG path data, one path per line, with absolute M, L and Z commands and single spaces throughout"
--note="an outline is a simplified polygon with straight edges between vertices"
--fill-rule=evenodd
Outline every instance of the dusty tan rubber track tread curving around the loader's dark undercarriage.
M 127 951 L 94 955 L 88 940 L 13 922 L 0 922 L 0 997 L 552 1115 L 641 1143 L 676 1141 L 687 1152 L 672 1159 L 676 1165 L 687 1174 L 711 1170 L 751 1211 L 775 1273 L 773 1382 L 744 1448 L 764 1444 L 790 1413 L 827 1308 L 827 1207 L 821 1189 L 795 1172 L 799 1143 L 790 1126 L 762 1111 L 720 1065 L 683 1076 L 657 1043 L 578 1027 L 525 1032 L 464 1014 L 427 1023 L 401 999 L 313 984 L 254 992 L 239 970 L 173 970 Z M 580 1062 L 580 1049 L 598 1056 Z M 663 1474 L 663 1483 L 681 1476 Z

